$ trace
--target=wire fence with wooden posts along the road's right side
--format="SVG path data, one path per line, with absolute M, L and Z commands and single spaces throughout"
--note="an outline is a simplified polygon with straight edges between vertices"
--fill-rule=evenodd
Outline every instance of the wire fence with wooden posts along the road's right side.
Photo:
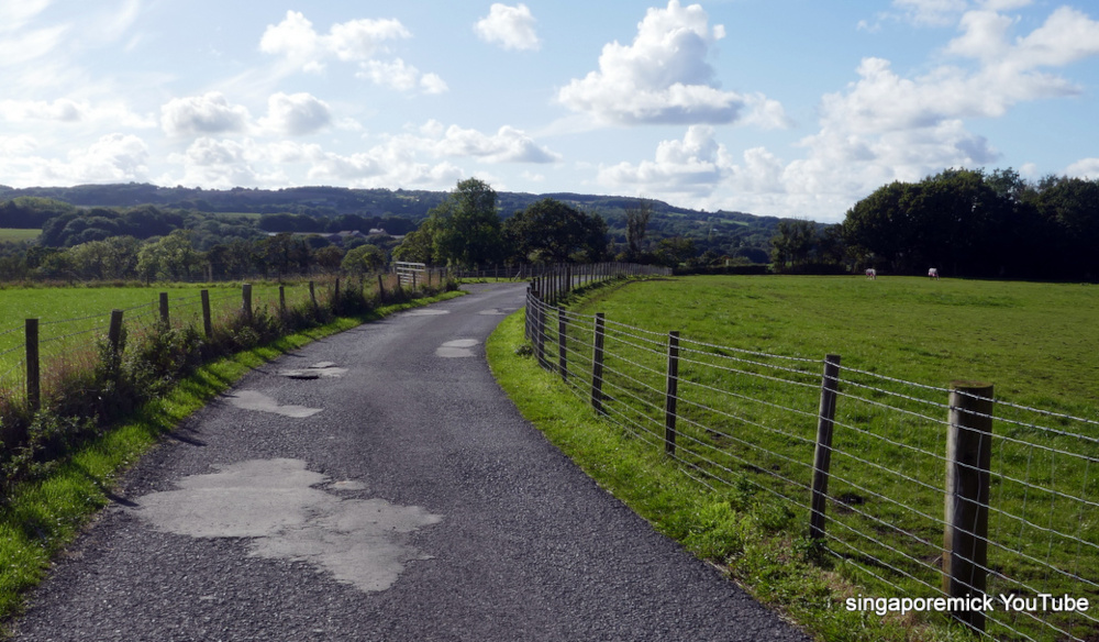
M 985 593 L 990 610 L 945 604 L 997 640 L 1099 637 L 1099 422 L 578 314 L 546 291 L 526 300 L 542 367 L 700 484 L 781 498 L 866 597 Z

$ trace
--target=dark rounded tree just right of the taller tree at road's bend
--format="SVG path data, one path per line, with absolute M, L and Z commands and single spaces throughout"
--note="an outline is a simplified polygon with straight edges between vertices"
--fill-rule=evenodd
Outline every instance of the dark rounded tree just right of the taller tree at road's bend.
M 503 234 L 514 255 L 532 263 L 591 263 L 607 253 L 607 222 L 552 198 L 504 221 Z

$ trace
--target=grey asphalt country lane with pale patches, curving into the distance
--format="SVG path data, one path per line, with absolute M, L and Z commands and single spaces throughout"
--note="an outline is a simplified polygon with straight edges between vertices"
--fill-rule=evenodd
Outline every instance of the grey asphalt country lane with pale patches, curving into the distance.
M 484 342 L 523 286 L 249 374 L 127 475 L 18 640 L 804 640 L 525 422 Z

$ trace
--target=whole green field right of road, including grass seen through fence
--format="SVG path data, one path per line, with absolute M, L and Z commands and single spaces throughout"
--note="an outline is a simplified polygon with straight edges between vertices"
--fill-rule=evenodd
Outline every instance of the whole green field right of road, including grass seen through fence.
M 571 311 L 574 386 L 582 396 L 590 385 L 586 319 L 603 312 L 609 414 L 654 449 L 664 445 L 666 332 L 680 331 L 680 468 L 790 498 L 802 533 L 821 359 L 840 354 L 828 544 L 841 571 L 875 596 L 931 597 L 941 584 L 951 381 L 991 383 L 998 400 L 1081 418 L 997 405 L 989 591 L 1096 595 L 1095 286 L 682 277 L 597 290 Z M 556 322 L 551 314 L 552 336 Z M 553 341 L 547 351 L 556 363 Z M 1091 615 L 997 612 L 990 630 L 1088 639 L 1097 624 Z

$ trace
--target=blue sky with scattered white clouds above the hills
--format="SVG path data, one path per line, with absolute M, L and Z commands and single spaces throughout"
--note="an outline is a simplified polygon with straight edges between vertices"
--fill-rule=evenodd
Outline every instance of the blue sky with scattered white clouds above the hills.
M 0 184 L 658 198 L 839 221 L 1099 178 L 1092 0 L 0 0 Z

